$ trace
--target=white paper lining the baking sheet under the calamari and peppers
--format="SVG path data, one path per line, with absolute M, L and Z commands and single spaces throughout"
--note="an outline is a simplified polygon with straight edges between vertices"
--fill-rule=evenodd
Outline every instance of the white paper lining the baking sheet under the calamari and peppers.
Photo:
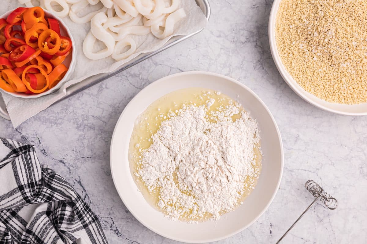
M 5 1 L 2 4 L 3 6 L 1 10 L 3 12 L 20 7 L 17 0 Z M 187 35 L 207 26 L 207 19 L 201 9 L 197 6 L 195 0 L 182 0 L 181 7 L 185 9 L 187 16 L 175 25 L 174 35 Z M 68 86 L 96 74 L 115 71 L 121 65 L 127 63 L 131 59 L 134 59 L 139 54 L 159 49 L 172 36 L 174 36 L 171 35 L 164 40 L 160 40 L 151 33 L 146 36 L 130 35 L 130 37 L 137 43 L 137 50 L 128 59 L 118 62 L 111 57 L 101 60 L 90 60 L 84 56 L 83 53 L 83 41 L 90 30 L 90 22 L 82 25 L 76 24 L 70 20 L 69 16 L 63 18 L 63 21 L 69 27 L 75 39 L 75 43 L 73 43 L 73 48 L 77 50 L 75 71 L 71 75 L 70 80 L 66 82 L 59 91 L 43 97 L 25 99 L 13 97 L 12 95 L 0 91 L 14 128 L 18 127 L 18 125 L 23 123 L 23 121 L 48 108 L 54 102 L 65 96 L 66 88 Z M 113 89 L 111 92 L 113 92 Z

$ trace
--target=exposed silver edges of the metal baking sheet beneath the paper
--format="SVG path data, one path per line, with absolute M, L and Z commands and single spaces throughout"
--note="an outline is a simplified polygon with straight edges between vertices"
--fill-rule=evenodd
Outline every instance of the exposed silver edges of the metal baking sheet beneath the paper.
M 206 18 L 209 20 L 210 17 L 210 5 L 208 0 L 196 0 L 197 5 L 199 5 L 199 7 L 201 8 L 201 10 L 203 11 L 204 15 L 206 16 Z M 189 35 L 181 35 L 181 36 L 177 36 L 177 37 L 172 37 L 171 40 L 169 40 L 163 47 L 161 47 L 160 49 L 154 51 L 154 52 L 150 52 L 150 53 L 142 53 L 141 55 L 139 55 L 138 57 L 136 57 L 135 59 L 132 59 L 130 62 L 124 64 L 123 66 L 121 66 L 119 69 L 117 69 L 114 72 L 111 73 L 104 73 L 104 74 L 98 74 L 98 75 L 94 75 L 91 76 L 79 83 L 76 83 L 72 86 L 69 86 L 68 88 L 66 88 L 66 95 L 64 97 L 62 97 L 59 101 L 62 101 L 66 98 L 69 98 L 77 93 L 80 93 L 81 91 L 88 89 L 91 86 L 94 86 L 96 84 L 98 84 L 99 82 L 110 78 L 111 76 L 114 76 L 132 66 L 134 66 L 135 64 L 140 63 L 143 60 L 148 59 L 149 57 L 152 57 L 154 55 L 156 55 L 157 53 L 162 52 L 163 50 L 166 50 L 167 48 L 170 48 L 171 46 L 189 38 L 192 37 L 193 35 L 199 33 L 200 31 L 202 31 L 203 29 L 196 31 L 195 33 L 191 33 Z M 55 104 L 57 103 L 55 102 Z M 3 101 L 3 99 L 0 99 L 0 116 L 3 117 L 4 119 L 10 120 L 9 114 L 6 110 L 6 106 L 5 103 Z

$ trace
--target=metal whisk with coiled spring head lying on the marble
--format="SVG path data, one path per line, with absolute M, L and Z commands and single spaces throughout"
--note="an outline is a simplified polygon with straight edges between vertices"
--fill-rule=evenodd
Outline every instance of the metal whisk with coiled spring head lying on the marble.
M 330 196 L 330 194 L 328 194 L 326 191 L 324 191 L 324 189 L 322 187 L 320 187 L 320 185 L 317 184 L 315 181 L 313 181 L 313 180 L 306 181 L 305 187 L 312 194 L 312 196 L 315 197 L 315 200 L 313 200 L 313 202 L 307 207 L 307 209 L 301 214 L 301 216 L 298 217 L 298 219 L 291 225 L 291 227 L 286 231 L 286 233 L 284 233 L 284 235 L 282 237 L 280 237 L 279 241 L 277 241 L 276 244 L 280 243 L 280 241 L 283 240 L 284 236 L 286 236 L 286 234 L 288 234 L 288 232 L 290 232 L 290 230 L 293 228 L 293 226 L 295 224 L 297 224 L 299 219 L 302 218 L 302 216 L 310 209 L 310 207 L 312 207 L 313 204 L 315 204 L 315 202 L 317 200 L 320 199 L 321 202 L 328 209 L 334 210 L 338 207 L 337 199 Z

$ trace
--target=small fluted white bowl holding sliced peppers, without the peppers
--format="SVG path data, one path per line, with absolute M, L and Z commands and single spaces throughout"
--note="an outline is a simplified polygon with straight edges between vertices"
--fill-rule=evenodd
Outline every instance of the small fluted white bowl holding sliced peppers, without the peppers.
M 14 10 L 10 10 L 8 12 L 6 12 L 5 14 L 0 16 L 0 19 L 4 18 L 6 19 L 7 16 Z M 50 17 L 50 18 L 54 18 L 57 19 L 57 21 L 60 24 L 60 31 L 61 31 L 61 35 L 69 37 L 70 40 L 72 41 L 72 44 L 74 45 L 75 41 L 74 38 L 68 28 L 68 26 L 65 25 L 65 23 L 62 21 L 62 19 L 60 19 L 58 16 L 51 14 L 51 12 L 48 12 L 47 10 L 44 10 L 45 12 L 45 16 L 46 17 Z M 44 91 L 43 93 L 38 93 L 38 94 L 25 94 L 25 93 L 21 93 L 21 92 L 7 92 L 2 90 L 5 93 L 8 93 L 14 97 L 21 97 L 21 98 L 37 98 L 37 97 L 42 97 L 44 95 L 53 93 L 57 90 L 60 89 L 60 87 L 63 85 L 63 83 L 67 82 L 71 76 L 71 74 L 73 74 L 74 69 L 75 69 L 75 63 L 76 63 L 76 49 L 73 48 L 72 53 L 70 53 L 65 61 L 63 62 L 63 64 L 65 64 L 66 67 L 69 67 L 68 72 L 66 72 L 64 78 L 62 78 L 62 80 L 59 81 L 59 83 L 57 83 L 56 86 L 52 87 L 50 90 Z

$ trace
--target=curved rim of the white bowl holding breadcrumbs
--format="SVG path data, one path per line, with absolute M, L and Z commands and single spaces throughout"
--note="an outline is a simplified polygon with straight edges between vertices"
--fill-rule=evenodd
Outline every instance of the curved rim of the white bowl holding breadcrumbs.
M 306 102 L 312 104 L 313 106 L 315 106 L 317 108 L 320 108 L 322 110 L 325 110 L 325 111 L 328 111 L 328 112 L 331 112 L 331 113 L 337 113 L 337 114 L 340 114 L 340 115 L 351 115 L 351 116 L 367 115 L 367 110 L 364 111 L 364 112 L 347 112 L 347 111 L 342 111 L 342 110 L 338 110 L 338 109 L 328 108 L 327 106 L 324 106 L 324 105 L 320 104 L 317 101 L 311 100 L 309 97 L 306 97 L 301 92 L 302 90 L 303 91 L 305 91 L 305 90 L 301 86 L 298 85 L 298 83 L 292 78 L 292 76 L 289 74 L 289 72 L 284 67 L 284 64 L 281 62 L 279 52 L 278 52 L 278 48 L 277 48 L 277 45 L 276 45 L 276 38 L 275 38 L 276 15 L 277 15 L 277 12 L 278 12 L 278 9 L 279 9 L 279 4 L 280 4 L 281 1 L 282 0 L 274 0 L 274 2 L 273 2 L 273 5 L 272 5 L 271 11 L 270 11 L 270 16 L 269 16 L 268 35 L 269 35 L 270 52 L 272 54 L 274 63 L 276 65 L 280 75 L 284 79 L 284 81 L 303 100 L 305 100 Z M 320 98 L 317 98 L 314 95 L 312 95 L 312 96 L 315 97 L 315 100 L 324 101 L 324 100 L 321 100 Z M 333 104 L 333 103 L 328 102 L 328 104 Z M 341 105 L 341 104 L 338 104 L 338 105 Z M 346 106 L 357 106 L 357 105 L 360 105 L 360 104 L 346 105 Z

